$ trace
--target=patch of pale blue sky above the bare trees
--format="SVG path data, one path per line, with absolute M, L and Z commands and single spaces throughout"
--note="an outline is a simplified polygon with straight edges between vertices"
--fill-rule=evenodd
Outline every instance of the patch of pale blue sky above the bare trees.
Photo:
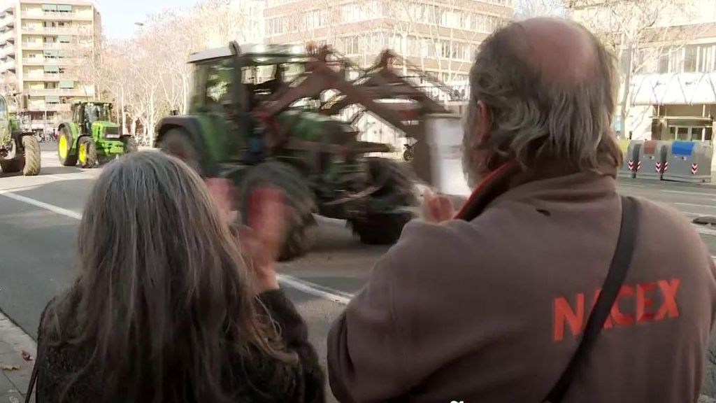
M 110 39 L 128 38 L 137 28 L 135 22 L 144 22 L 147 14 L 168 8 L 184 8 L 198 0 L 95 0 L 102 12 L 102 27 Z

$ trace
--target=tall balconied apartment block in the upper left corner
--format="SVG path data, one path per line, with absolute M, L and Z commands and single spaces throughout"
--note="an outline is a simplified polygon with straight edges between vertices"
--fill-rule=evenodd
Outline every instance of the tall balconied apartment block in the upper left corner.
M 0 80 L 29 95 L 32 128 L 52 131 L 74 100 L 95 97 L 86 77 L 101 33 L 89 0 L 0 1 Z

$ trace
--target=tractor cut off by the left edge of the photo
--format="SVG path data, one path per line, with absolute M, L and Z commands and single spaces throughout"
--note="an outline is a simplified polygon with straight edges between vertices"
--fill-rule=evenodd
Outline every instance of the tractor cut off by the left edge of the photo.
M 8 99 L 22 100 L 17 103 L 15 115 L 9 113 Z M 22 172 L 24 176 L 36 176 L 40 173 L 40 143 L 29 128 L 29 115 L 24 113 L 26 100 L 21 95 L 11 98 L 0 95 L 0 169 L 5 174 Z

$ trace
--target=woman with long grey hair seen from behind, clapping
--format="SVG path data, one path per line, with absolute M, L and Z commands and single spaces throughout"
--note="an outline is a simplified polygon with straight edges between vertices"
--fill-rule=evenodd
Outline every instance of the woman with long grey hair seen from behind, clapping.
M 37 401 L 323 401 L 306 326 L 276 282 L 280 199 L 254 196 L 263 214 L 238 242 L 178 159 L 108 165 L 79 226 L 79 276 L 40 319 Z

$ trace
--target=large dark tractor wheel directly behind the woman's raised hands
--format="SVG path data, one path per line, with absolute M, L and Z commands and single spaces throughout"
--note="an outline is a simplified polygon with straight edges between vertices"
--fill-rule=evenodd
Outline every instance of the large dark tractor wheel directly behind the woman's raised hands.
M 254 189 L 273 186 L 284 192 L 286 223 L 279 260 L 291 260 L 309 252 L 316 243 L 317 212 L 313 191 L 306 178 L 286 163 L 269 161 L 259 164 L 243 176 L 238 191 L 241 221 L 248 224 L 249 197 Z

